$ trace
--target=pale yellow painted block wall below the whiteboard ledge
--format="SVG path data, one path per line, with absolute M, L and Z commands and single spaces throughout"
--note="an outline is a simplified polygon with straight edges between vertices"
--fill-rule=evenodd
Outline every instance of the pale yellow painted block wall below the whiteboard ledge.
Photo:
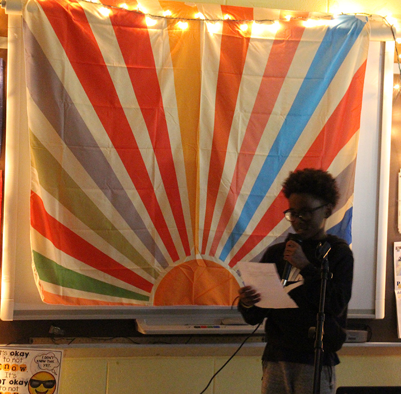
M 135 352 L 135 345 L 131 346 Z M 188 347 L 189 349 L 189 347 Z M 194 346 L 190 346 L 193 353 Z M 252 352 L 262 352 L 260 346 Z M 233 351 L 235 347 L 233 347 Z M 199 347 L 198 356 L 182 355 L 114 356 L 113 351 L 99 357 L 90 349 L 66 352 L 62 364 L 61 394 L 200 394 L 213 374 L 230 356 L 213 355 Z M 150 351 L 149 353 L 157 353 Z M 189 351 L 188 351 L 189 353 Z M 210 353 L 210 355 L 203 355 Z M 399 385 L 401 386 L 401 347 L 345 347 L 337 366 L 337 386 Z M 118 354 L 118 351 L 117 351 Z M 207 394 L 259 394 L 261 358 L 258 355 L 237 355 L 216 376 Z

